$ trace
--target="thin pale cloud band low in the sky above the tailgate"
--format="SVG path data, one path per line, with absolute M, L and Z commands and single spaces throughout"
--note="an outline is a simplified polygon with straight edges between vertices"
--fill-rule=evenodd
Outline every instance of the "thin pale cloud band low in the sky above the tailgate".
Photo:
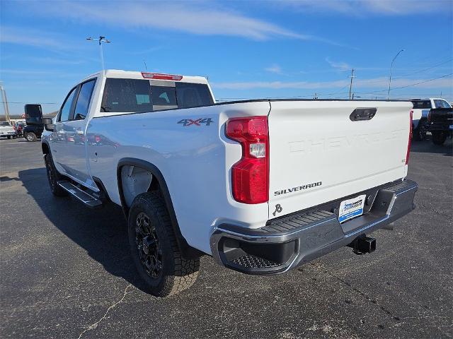
M 397 88 L 414 83 L 420 83 L 429 79 L 409 79 L 399 78 L 392 79 L 392 88 Z M 306 89 L 315 90 L 321 88 L 343 88 L 349 84 L 349 80 L 338 81 L 249 81 L 249 82 L 231 82 L 231 83 L 211 83 L 215 89 L 226 90 L 252 90 L 252 89 Z M 414 87 L 417 88 L 452 88 L 452 78 L 440 78 L 426 83 L 420 83 Z M 389 78 L 369 78 L 357 79 L 353 83 L 353 88 L 377 88 L 383 89 L 389 85 Z

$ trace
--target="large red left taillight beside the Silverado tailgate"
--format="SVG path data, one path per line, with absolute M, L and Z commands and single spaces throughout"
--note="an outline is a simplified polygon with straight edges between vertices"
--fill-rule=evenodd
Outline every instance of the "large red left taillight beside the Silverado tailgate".
M 241 160 L 231 168 L 234 200 L 265 203 L 269 200 L 268 117 L 229 119 L 226 136 L 242 146 Z

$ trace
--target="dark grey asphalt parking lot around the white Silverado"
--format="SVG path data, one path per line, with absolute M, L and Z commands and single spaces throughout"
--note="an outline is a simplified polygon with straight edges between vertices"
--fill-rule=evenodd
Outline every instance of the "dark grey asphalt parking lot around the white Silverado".
M 1 338 L 452 338 L 452 141 L 413 143 L 416 210 L 277 276 L 201 260 L 195 285 L 142 292 L 116 206 L 54 198 L 40 143 L 0 140 Z

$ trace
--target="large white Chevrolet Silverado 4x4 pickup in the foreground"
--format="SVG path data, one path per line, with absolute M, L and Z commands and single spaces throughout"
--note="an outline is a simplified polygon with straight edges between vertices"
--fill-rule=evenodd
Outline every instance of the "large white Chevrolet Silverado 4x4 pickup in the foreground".
M 411 102 L 215 103 L 205 78 L 108 70 L 43 119 L 56 196 L 122 206 L 149 292 L 190 287 L 200 256 L 283 273 L 413 210 Z M 39 109 L 35 109 L 39 111 Z

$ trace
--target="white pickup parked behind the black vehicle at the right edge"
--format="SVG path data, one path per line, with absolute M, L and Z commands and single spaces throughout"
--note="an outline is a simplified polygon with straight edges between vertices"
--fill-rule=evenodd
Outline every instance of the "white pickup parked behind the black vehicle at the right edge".
M 413 99 L 413 138 L 425 140 L 428 127 L 428 113 L 432 108 L 452 108 L 447 100 L 437 97 L 428 99 Z

